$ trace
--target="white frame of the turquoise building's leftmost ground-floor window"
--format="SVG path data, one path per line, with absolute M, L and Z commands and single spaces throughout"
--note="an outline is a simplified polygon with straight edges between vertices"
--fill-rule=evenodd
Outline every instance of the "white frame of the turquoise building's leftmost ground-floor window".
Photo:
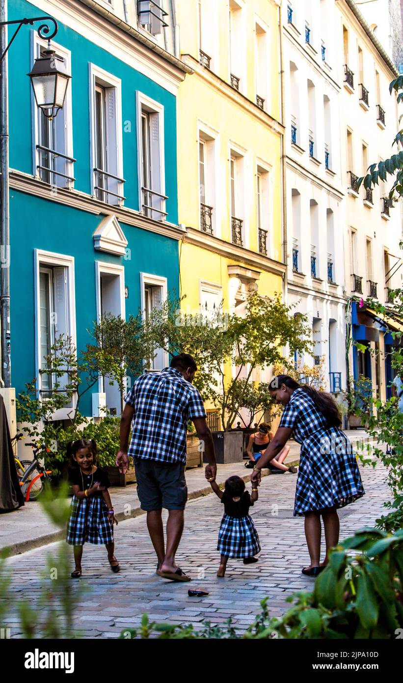
M 55 253 L 53 251 L 44 251 L 43 249 L 33 250 L 33 268 L 34 268 L 34 301 L 35 301 L 35 375 L 36 375 L 36 390 L 41 398 L 40 389 L 41 378 L 41 357 L 40 357 L 40 270 L 41 268 L 67 268 L 68 270 L 68 337 L 71 337 L 72 344 L 77 347 L 76 338 L 76 293 L 74 280 L 74 256 Z M 54 420 L 68 419 L 72 410 L 76 406 L 77 397 L 72 396 L 72 405 L 66 408 L 56 410 L 53 414 Z

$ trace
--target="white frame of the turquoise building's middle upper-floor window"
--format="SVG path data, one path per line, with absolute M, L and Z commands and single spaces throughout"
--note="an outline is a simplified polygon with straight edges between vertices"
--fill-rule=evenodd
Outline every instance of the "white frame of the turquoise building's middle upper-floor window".
M 95 197 L 96 177 L 95 171 L 95 87 L 101 85 L 104 88 L 115 88 L 115 102 L 116 102 L 116 146 L 117 146 L 117 173 L 119 178 L 123 178 L 123 139 L 122 139 L 122 103 L 121 103 L 121 79 L 117 76 L 104 71 L 96 64 L 89 64 L 89 154 L 91 161 L 91 195 Z M 108 152 L 108 156 L 109 156 Z M 109 164 L 108 164 L 109 165 Z M 119 182 L 119 194 L 123 195 L 123 182 Z M 111 206 L 123 206 L 123 199 L 114 197 L 113 195 L 106 195 L 109 201 L 104 202 Z M 98 198 L 98 197 L 97 197 Z M 100 200 L 102 201 L 102 200 Z

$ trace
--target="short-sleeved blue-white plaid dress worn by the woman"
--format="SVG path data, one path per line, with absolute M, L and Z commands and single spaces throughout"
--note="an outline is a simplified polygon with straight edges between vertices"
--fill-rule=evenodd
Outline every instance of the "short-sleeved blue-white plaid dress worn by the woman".
M 312 398 L 295 389 L 279 427 L 301 444 L 294 515 L 344 507 L 365 493 L 353 447 L 338 427 L 328 427 Z

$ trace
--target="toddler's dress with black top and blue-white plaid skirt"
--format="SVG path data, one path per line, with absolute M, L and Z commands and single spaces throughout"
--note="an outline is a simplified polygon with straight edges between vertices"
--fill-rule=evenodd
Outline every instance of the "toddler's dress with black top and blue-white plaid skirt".
M 224 503 L 225 514 L 218 532 L 217 550 L 226 557 L 253 557 L 260 552 L 260 542 L 252 517 L 248 514 L 250 506 L 253 505 L 250 494 L 245 491 L 241 501 L 233 503 L 227 499 L 224 492 L 221 502 Z M 228 514 L 237 505 L 242 507 L 243 515 L 235 517 Z

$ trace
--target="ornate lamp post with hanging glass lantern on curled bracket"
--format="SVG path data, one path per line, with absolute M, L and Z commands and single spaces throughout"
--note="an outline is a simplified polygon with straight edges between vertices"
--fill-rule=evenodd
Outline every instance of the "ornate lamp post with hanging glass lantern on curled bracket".
M 68 82 L 71 76 L 66 72 L 63 60 L 50 50 L 50 40 L 56 36 L 58 25 L 52 16 L 7 20 L 7 0 L 0 0 L 0 314 L 1 314 L 1 383 L 11 387 L 11 334 L 10 334 L 10 211 L 9 211 L 9 165 L 8 165 L 8 51 L 21 27 L 38 27 L 38 36 L 48 40 L 44 56 L 35 59 L 29 77 L 38 107 L 52 119 L 63 108 Z M 16 30 L 7 42 L 7 26 Z M 53 25 L 53 26 L 52 26 Z

